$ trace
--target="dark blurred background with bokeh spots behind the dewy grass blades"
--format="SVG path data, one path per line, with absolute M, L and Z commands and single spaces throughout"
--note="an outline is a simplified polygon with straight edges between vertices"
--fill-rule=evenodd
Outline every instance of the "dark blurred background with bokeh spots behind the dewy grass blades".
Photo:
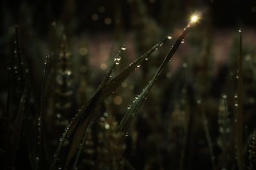
M 102 146 L 102 124 L 120 122 L 127 106 L 150 81 L 194 13 L 200 13 L 200 20 L 189 30 L 168 67 L 157 79 L 132 125 L 125 141 L 124 158 L 128 164 L 125 168 L 212 169 L 212 164 L 215 164 L 217 169 L 237 169 L 233 129 L 241 30 L 244 150 L 245 157 L 248 157 L 248 146 L 256 127 L 256 1 L 3 0 L 0 9 L 0 116 L 3 117 L 6 108 L 7 67 L 12 65 L 15 53 L 13 42 L 17 25 L 20 52 L 26 60 L 31 91 L 35 94 L 35 101 L 31 103 L 35 105 L 40 100 L 45 56 L 51 56 L 45 110 L 47 143 L 52 150 L 58 145 L 70 118 L 99 86 L 121 46 L 125 45 L 126 50 L 113 76 L 164 36 L 172 36 L 108 97 L 114 120 L 109 120 L 110 113 L 102 114 L 93 125 L 78 169 L 92 167 Z M 65 80 L 60 76 L 63 46 L 68 53 Z M 14 84 L 11 81 L 11 87 Z M 61 88 L 65 94 L 58 91 Z M 14 90 L 12 95 L 15 96 Z M 223 108 L 227 108 L 225 118 Z M 104 106 L 99 106 L 97 111 L 105 113 L 105 110 Z M 205 135 L 202 110 L 207 118 L 210 142 Z M 223 119 L 228 122 L 226 130 L 223 130 Z M 223 142 L 227 146 L 225 159 L 221 157 Z M 49 160 L 53 154 L 51 149 Z M 26 158 L 23 162 L 17 161 L 20 167 L 23 164 L 29 164 Z

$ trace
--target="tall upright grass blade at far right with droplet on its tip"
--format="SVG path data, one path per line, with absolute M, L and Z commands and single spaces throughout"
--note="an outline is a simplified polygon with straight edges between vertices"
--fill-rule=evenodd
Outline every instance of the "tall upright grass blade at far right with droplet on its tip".
M 239 53 L 237 57 L 237 101 L 236 111 L 236 157 L 240 170 L 245 170 L 244 163 L 244 116 L 243 116 L 243 59 L 242 59 L 242 31 L 239 29 Z

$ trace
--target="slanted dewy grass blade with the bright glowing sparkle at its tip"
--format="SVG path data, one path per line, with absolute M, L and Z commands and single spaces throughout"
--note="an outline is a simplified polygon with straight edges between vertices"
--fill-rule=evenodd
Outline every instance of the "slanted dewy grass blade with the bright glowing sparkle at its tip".
M 124 134 L 127 134 L 127 132 L 129 131 L 129 128 L 131 127 L 131 124 L 134 120 L 134 117 L 136 116 L 136 114 L 138 113 L 138 110 L 140 109 L 141 105 L 143 104 L 143 102 L 147 98 L 148 92 L 150 91 L 152 85 L 154 84 L 154 82 L 156 81 L 158 76 L 160 75 L 161 71 L 163 71 L 166 64 L 170 61 L 170 59 L 172 59 L 173 54 L 179 48 L 180 43 L 184 39 L 184 37 L 186 36 L 190 26 L 191 25 L 189 23 L 187 25 L 187 27 L 184 29 L 184 31 L 182 31 L 182 33 L 180 34 L 179 38 L 177 39 L 177 41 L 175 42 L 175 44 L 173 45 L 171 50 L 167 53 L 166 57 L 164 58 L 163 62 L 161 63 L 161 66 L 159 66 L 159 68 L 157 69 L 153 78 L 149 81 L 149 83 L 145 87 L 145 89 L 143 89 L 143 91 L 141 92 L 138 99 L 136 99 L 136 101 L 134 101 L 134 103 L 132 103 L 131 108 L 130 107 L 128 108 L 127 112 L 125 113 L 124 117 L 121 120 L 121 123 L 118 127 L 118 131 L 124 132 Z

